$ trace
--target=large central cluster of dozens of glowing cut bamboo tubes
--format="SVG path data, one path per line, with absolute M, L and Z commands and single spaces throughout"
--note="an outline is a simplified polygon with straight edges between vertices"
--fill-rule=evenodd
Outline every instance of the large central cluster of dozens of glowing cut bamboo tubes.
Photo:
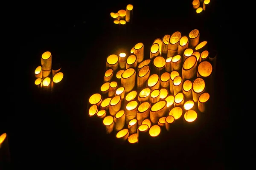
M 207 114 L 217 54 L 199 35 L 193 29 L 157 38 L 165 46 L 152 41 L 148 51 L 153 45 L 154 53 L 162 51 L 155 56 L 144 56 L 144 44 L 138 42 L 123 55 L 126 60 L 120 54 L 106 57 L 102 86 L 89 97 L 89 116 L 102 119 L 107 134 L 129 143 L 137 143 L 140 134 L 156 137 L 162 128 L 172 130 L 175 122 L 200 121 L 198 116 Z

